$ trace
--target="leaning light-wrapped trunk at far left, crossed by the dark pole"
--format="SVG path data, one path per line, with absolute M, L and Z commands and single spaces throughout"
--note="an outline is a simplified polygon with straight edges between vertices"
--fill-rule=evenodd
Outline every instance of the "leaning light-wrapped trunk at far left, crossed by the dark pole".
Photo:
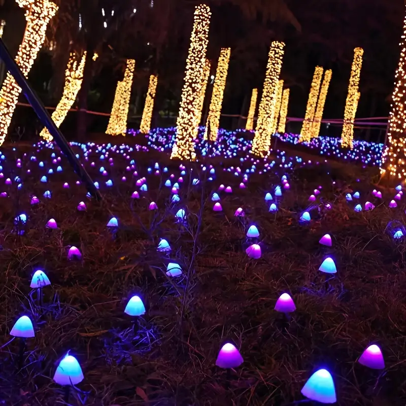
M 47 25 L 56 14 L 58 7 L 48 0 L 16 0 L 20 7 L 26 8 L 24 38 L 18 50 L 16 62 L 25 77 L 31 70 L 45 40 Z M 2 89 L 0 90 L 0 145 L 4 143 L 7 131 L 17 105 L 21 88 L 13 76 L 7 74 Z

